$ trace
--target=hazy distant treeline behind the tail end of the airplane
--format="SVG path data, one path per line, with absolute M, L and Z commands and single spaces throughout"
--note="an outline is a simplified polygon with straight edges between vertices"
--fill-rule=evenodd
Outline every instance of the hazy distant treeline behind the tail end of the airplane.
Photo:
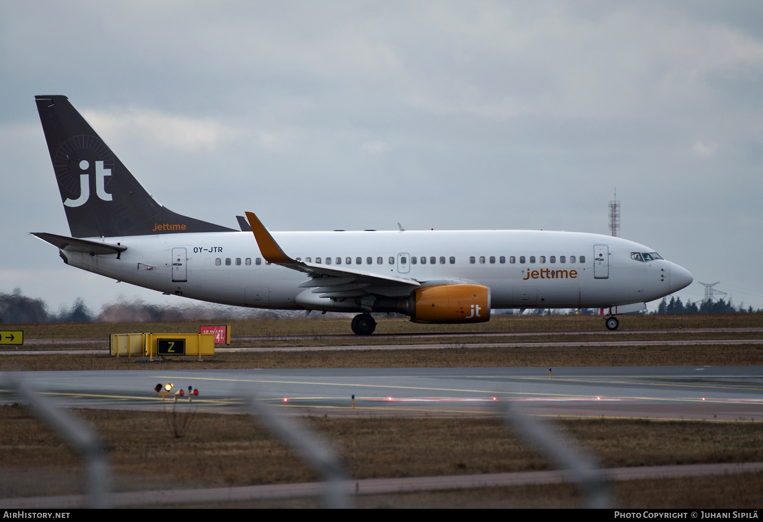
M 311 317 L 317 319 L 320 313 Z M 0 323 L 28 322 L 184 322 L 211 320 L 286 319 L 304 317 L 304 312 L 260 310 L 238 306 L 215 305 L 189 301 L 182 306 L 156 305 L 134 300 L 109 303 L 94 312 L 82 298 L 74 300 L 71 308 L 62 307 L 57 313 L 48 310 L 43 299 L 24 296 L 20 289 L 13 293 L 0 293 Z

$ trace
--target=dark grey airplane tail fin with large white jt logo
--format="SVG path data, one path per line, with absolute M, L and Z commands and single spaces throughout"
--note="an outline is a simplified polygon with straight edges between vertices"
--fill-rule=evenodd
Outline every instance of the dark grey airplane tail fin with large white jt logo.
M 233 232 L 159 205 L 66 96 L 34 99 L 73 237 Z

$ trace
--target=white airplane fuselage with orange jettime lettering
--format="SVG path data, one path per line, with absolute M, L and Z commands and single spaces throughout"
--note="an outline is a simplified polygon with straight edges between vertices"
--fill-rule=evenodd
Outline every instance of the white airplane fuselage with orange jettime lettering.
M 479 283 L 490 287 L 494 309 L 645 303 L 692 280 L 688 271 L 670 261 L 631 258 L 633 252 L 652 252 L 644 245 L 581 232 L 406 230 L 272 236 L 287 255 L 302 261 L 321 258 L 327 264 L 330 258 L 334 267 L 340 258 L 341 267 L 411 278 L 422 286 L 452 280 Z M 69 264 L 84 270 L 192 299 L 270 309 L 337 309 L 331 299 L 299 304 L 304 288 L 298 285 L 309 277 L 266 264 L 251 232 L 134 235 L 108 238 L 108 243 L 120 243 L 127 250 L 120 255 L 63 253 Z M 348 258 L 351 266 L 346 266 Z M 411 290 L 399 290 L 400 296 Z M 320 306 L 323 301 L 325 306 Z

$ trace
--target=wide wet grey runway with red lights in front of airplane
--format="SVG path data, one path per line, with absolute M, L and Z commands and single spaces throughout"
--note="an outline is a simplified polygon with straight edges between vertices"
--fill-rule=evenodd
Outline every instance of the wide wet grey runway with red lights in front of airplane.
M 315 415 L 494 415 L 504 401 L 535 415 L 763 421 L 763 367 L 381 368 L 57 371 L 23 373 L 78 408 L 165 408 L 153 386 L 193 386 L 182 408 L 243 411 L 242 398 Z M 0 402 L 14 402 L 0 373 Z M 15 373 L 21 376 L 21 373 Z M 355 408 L 351 396 L 355 395 Z

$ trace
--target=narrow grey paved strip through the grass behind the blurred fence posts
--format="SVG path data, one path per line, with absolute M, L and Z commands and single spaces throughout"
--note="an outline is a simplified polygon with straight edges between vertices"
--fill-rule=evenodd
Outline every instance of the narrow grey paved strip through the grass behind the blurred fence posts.
M 602 469 L 610 481 L 671 479 L 687 476 L 726 475 L 763 471 L 763 463 L 688 464 L 683 466 L 643 466 L 633 468 Z M 481 475 L 450 475 L 406 477 L 401 479 L 360 479 L 345 482 L 355 495 L 385 495 L 394 493 L 446 491 L 449 489 L 491 488 L 517 485 L 562 484 L 570 482 L 568 471 L 533 471 L 489 473 Z M 118 507 L 150 506 L 160 504 L 199 504 L 205 502 L 253 501 L 277 498 L 323 495 L 324 482 L 298 484 L 249 485 L 234 488 L 169 489 L 113 494 Z M 56 497 L 0 498 L 3 509 L 82 508 L 83 495 Z

